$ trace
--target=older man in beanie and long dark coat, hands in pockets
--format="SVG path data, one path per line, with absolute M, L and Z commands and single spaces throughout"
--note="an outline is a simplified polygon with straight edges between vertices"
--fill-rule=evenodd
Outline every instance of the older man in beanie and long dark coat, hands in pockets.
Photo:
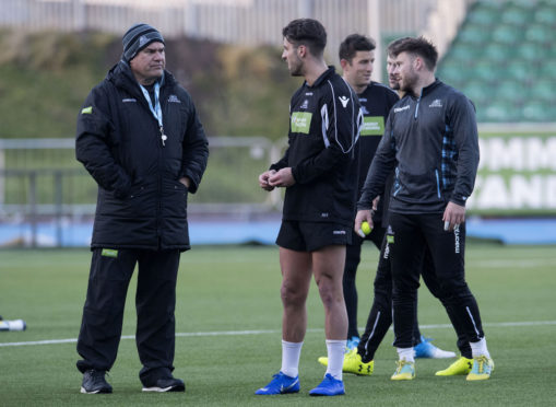
M 190 95 L 165 70 L 165 43 L 147 24 L 122 39 L 121 60 L 87 96 L 76 158 L 98 184 L 91 275 L 78 340 L 82 393 L 111 393 L 105 373 L 121 336 L 127 289 L 139 265 L 137 347 L 145 392 L 184 392 L 175 379 L 176 279 L 189 246 L 187 196 L 209 148 Z

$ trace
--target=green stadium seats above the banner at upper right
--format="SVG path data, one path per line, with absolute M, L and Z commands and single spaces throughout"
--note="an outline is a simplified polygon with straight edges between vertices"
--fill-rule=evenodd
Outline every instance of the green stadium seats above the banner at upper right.
M 437 75 L 482 123 L 556 121 L 556 0 L 476 0 Z

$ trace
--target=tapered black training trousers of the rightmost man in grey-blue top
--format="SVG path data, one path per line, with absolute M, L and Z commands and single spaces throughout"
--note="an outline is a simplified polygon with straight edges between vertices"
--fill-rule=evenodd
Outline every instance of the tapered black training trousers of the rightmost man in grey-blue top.
M 458 342 L 476 342 L 484 337 L 475 298 L 465 282 L 465 224 L 452 232 L 443 230 L 442 213 L 390 213 L 388 234 L 392 261 L 394 346 L 413 346 L 421 264 L 428 248 L 445 304 L 459 337 Z M 461 350 L 461 349 L 460 349 Z

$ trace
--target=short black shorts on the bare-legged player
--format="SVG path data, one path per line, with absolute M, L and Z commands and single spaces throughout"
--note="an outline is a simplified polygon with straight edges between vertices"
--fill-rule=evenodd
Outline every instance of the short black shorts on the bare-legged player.
M 339 223 L 282 221 L 276 244 L 296 252 L 352 244 L 352 229 Z

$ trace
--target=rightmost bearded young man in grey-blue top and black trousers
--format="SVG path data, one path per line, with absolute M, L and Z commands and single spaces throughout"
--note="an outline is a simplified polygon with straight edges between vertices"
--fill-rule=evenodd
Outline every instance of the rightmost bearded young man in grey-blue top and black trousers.
M 464 333 L 473 356 L 469 381 L 487 380 L 494 362 L 486 346 L 475 298 L 464 277 L 465 201 L 478 166 L 474 106 L 462 93 L 435 78 L 438 53 L 423 37 L 389 47 L 393 73 L 405 96 L 386 125 L 370 166 L 355 219 L 372 224 L 372 200 L 392 170 L 387 239 L 393 279 L 394 346 L 398 369 L 392 380 L 415 377 L 413 323 L 419 265 L 426 248 L 435 265 L 440 295 L 456 330 Z

